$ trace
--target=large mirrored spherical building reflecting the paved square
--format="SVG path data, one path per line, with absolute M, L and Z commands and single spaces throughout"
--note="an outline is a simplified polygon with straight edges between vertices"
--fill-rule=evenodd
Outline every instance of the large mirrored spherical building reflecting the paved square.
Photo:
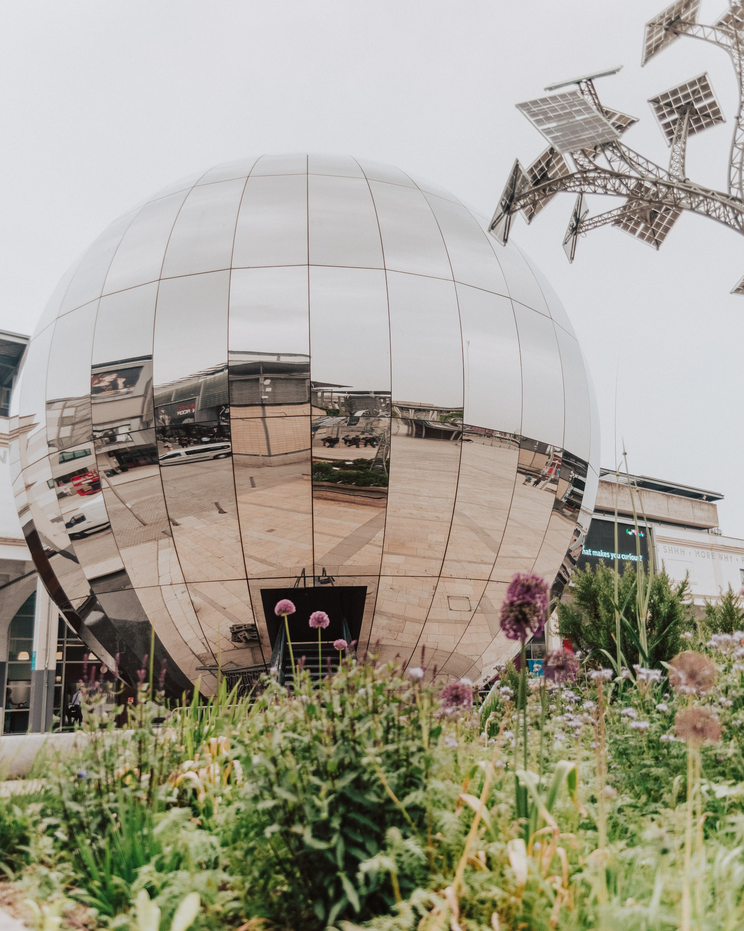
M 515 572 L 560 588 L 591 385 L 538 268 L 447 191 L 347 156 L 175 183 L 62 279 L 16 392 L 14 493 L 68 623 L 131 680 L 249 680 L 329 640 L 472 680 Z M 297 652 L 297 651 L 296 651 Z

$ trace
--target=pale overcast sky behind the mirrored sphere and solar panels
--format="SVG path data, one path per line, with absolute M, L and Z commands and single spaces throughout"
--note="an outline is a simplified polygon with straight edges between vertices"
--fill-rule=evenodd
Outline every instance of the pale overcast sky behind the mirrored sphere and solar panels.
M 642 117 L 628 143 L 664 163 L 646 100 L 704 71 L 729 123 L 688 175 L 723 189 L 736 114 L 723 51 L 680 39 L 642 70 L 664 0 L 18 0 L 0 2 L 0 327 L 31 332 L 73 259 L 166 183 L 260 152 L 390 162 L 490 215 L 515 156 L 543 147 L 514 104 L 608 65 L 602 99 Z M 711 21 L 724 0 L 703 0 Z M 573 196 L 514 238 L 560 294 L 589 360 L 603 466 L 724 492 L 744 537 L 744 239 L 684 214 L 660 252 L 605 228 L 561 242 Z M 592 211 L 603 198 L 590 199 Z M 613 205 L 614 206 L 614 205 Z

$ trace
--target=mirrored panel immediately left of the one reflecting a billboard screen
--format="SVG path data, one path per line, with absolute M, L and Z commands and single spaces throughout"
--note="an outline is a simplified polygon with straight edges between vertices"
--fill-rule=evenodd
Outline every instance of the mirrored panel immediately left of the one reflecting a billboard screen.
M 57 320 L 46 371 L 46 435 L 50 451 L 92 438 L 88 369 L 98 301 Z

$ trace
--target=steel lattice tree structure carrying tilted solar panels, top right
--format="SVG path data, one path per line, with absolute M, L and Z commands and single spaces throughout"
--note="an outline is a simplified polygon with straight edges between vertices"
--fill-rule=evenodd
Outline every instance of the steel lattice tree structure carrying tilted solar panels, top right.
M 698 7 L 699 0 L 675 0 L 647 22 L 641 63 L 682 35 L 728 52 L 737 74 L 739 103 L 727 192 L 703 187 L 685 174 L 688 137 L 724 122 L 708 75 L 700 74 L 649 101 L 671 146 L 665 169 L 622 142 L 623 134 L 637 120 L 604 107 L 599 100 L 594 80 L 619 71 L 608 69 L 545 88 L 562 88 L 560 94 L 517 104 L 551 145 L 526 169 L 518 159 L 514 162 L 489 226 L 500 243 L 506 244 L 516 213 L 531 223 L 561 192 L 578 195 L 564 237 L 569 262 L 574 260 L 578 236 L 605 225 L 617 226 L 658 249 L 683 210 L 711 217 L 744 235 L 744 0 L 731 0 L 711 26 L 697 22 Z M 585 203 L 588 194 L 620 196 L 624 203 L 591 217 Z M 731 293 L 744 294 L 744 278 Z

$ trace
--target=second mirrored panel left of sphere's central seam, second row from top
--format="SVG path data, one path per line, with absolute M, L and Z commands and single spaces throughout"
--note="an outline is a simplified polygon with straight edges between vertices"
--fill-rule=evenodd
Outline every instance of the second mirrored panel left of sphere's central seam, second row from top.
M 192 188 L 173 225 L 162 277 L 230 268 L 244 187 L 245 181 L 239 178 Z

